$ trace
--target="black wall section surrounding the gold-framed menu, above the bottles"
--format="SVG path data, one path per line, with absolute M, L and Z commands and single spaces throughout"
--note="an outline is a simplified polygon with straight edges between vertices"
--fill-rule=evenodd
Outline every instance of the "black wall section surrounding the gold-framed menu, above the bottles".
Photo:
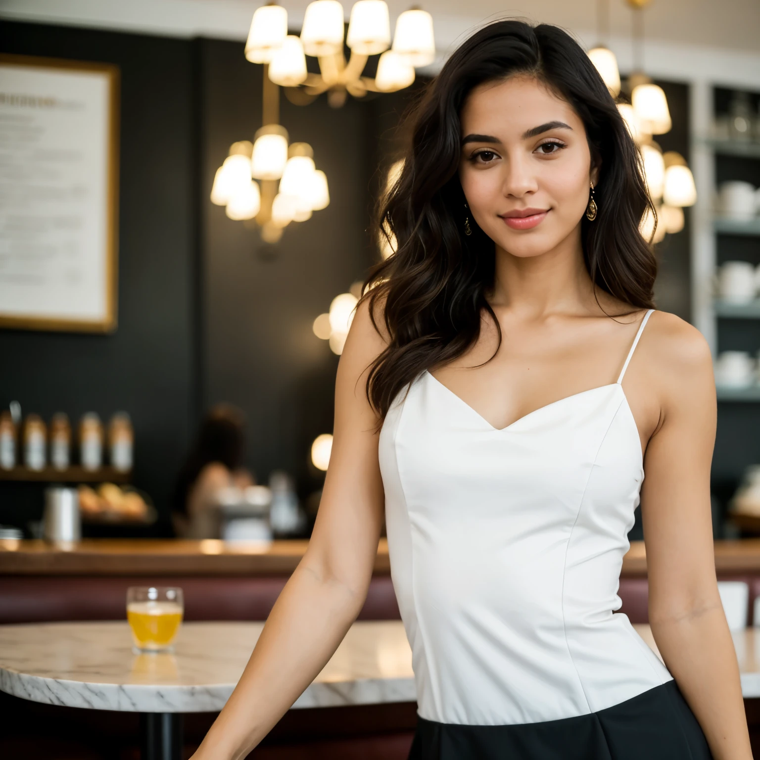
M 0 331 L 0 406 L 46 419 L 130 413 L 135 484 L 166 514 L 194 426 L 195 118 L 192 43 L 0 23 L 0 49 L 115 63 L 121 71 L 119 328 L 110 335 Z M 0 483 L 0 523 L 24 524 L 41 489 Z

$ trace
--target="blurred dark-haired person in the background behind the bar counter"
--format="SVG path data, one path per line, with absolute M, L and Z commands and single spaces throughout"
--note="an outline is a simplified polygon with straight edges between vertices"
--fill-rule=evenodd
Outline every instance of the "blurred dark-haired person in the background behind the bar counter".
M 230 404 L 217 404 L 206 413 L 198 439 L 179 471 L 172 520 L 181 538 L 218 538 L 215 507 L 220 492 L 254 484 L 242 467 L 245 417 Z

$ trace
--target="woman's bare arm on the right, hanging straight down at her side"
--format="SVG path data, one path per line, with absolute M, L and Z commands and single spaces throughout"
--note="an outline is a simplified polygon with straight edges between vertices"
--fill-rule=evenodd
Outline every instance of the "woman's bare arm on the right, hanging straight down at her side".
M 650 346 L 660 422 L 647 445 L 641 488 L 649 622 L 715 760 L 751 760 L 736 651 L 715 578 L 711 356 L 701 334 L 675 318 L 660 321 Z

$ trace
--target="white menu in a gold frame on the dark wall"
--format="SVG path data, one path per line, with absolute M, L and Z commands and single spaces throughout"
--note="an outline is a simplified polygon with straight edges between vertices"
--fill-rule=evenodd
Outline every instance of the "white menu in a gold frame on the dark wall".
M 0 328 L 116 329 L 119 69 L 0 55 Z

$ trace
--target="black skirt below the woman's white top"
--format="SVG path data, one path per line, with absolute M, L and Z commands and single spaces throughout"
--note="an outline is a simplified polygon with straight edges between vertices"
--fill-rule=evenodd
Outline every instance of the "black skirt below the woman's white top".
M 675 681 L 588 715 L 511 726 L 418 718 L 409 760 L 711 760 Z

